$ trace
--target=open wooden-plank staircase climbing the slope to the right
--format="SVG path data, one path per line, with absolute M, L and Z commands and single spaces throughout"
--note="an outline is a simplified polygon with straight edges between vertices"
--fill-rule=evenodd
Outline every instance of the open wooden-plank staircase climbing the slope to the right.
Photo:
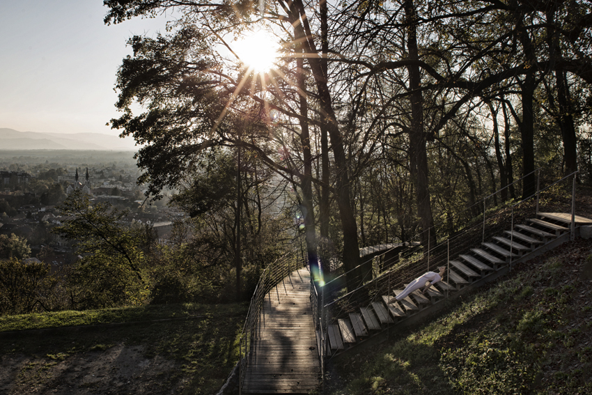
M 416 323 L 440 309 L 444 299 L 462 295 L 506 274 L 515 263 L 527 261 L 561 245 L 579 233 L 579 226 L 586 224 L 592 224 L 592 220 L 576 215 L 571 231 L 570 214 L 539 212 L 535 218 L 501 231 L 464 254 L 458 254 L 453 259 L 450 256 L 444 279 L 428 288 L 425 294 L 415 291 L 397 302 L 394 297 L 403 292 L 407 284 L 392 289 L 390 293 L 387 292 L 390 286 L 377 286 L 377 291 L 368 293 L 371 297 L 361 306 L 345 309 L 348 312 L 340 313 L 336 319 L 326 318 L 325 322 L 330 321 L 322 336 L 326 358 L 336 360 L 354 350 L 384 341 L 393 327 Z M 423 272 L 416 273 L 409 281 L 421 274 Z

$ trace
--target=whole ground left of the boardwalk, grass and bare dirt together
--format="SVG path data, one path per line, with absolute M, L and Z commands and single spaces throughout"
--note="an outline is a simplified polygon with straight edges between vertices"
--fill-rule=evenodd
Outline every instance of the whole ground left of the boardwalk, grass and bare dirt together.
M 0 394 L 215 393 L 237 362 L 247 307 L 169 304 L 0 317 Z

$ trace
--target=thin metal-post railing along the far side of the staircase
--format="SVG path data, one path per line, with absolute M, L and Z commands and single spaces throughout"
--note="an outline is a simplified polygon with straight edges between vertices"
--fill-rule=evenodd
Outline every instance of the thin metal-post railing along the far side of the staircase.
M 343 317 L 359 307 L 367 307 L 372 302 L 377 302 L 381 295 L 391 295 L 394 289 L 402 289 L 405 281 L 411 281 L 416 277 L 416 274 L 422 274 L 426 269 L 435 270 L 441 265 L 445 265 L 449 269 L 451 258 L 463 254 L 473 247 L 480 246 L 482 242 L 494 235 L 513 230 L 515 224 L 527 218 L 536 217 L 539 212 L 570 211 L 572 215 L 570 230 L 573 238 L 575 231 L 575 174 L 577 172 L 571 173 L 540 189 L 540 169 L 537 171 L 537 188 L 536 193 L 532 196 L 517 202 L 508 201 L 496 208 L 484 210 L 482 220 L 474 218 L 472 223 L 465 226 L 462 231 L 448 235 L 444 240 L 440 240 L 437 246 L 423 253 L 419 248 L 415 249 L 411 254 L 401 257 L 394 268 L 378 274 L 373 279 L 367 279 L 368 281 L 361 281 L 361 285 L 352 291 L 341 292 L 344 289 L 345 277 L 348 273 L 342 274 L 322 286 L 320 291 L 323 301 L 317 312 L 319 318 L 316 318 L 316 320 L 321 325 L 322 347 L 319 351 L 322 352 L 322 355 L 325 355 L 323 366 L 327 362 L 327 357 L 331 357 L 331 355 L 327 355 L 327 337 L 324 336 L 327 333 L 327 325 L 334 323 L 336 318 Z M 568 183 L 569 180 L 572 180 L 572 183 Z M 494 194 L 483 200 L 483 206 L 491 196 L 494 196 Z M 513 241 L 511 242 L 513 243 Z M 511 250 L 510 265 L 512 264 L 513 254 L 512 245 L 508 247 Z M 364 264 L 362 263 L 362 265 Z M 449 270 L 446 272 L 449 273 Z M 449 278 L 446 278 L 446 282 L 449 284 Z M 329 300 L 329 297 L 331 300 Z

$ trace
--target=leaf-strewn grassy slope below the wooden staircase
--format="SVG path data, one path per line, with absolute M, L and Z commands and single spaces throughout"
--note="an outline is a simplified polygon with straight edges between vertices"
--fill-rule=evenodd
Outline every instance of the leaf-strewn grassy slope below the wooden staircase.
M 592 240 L 522 263 L 333 366 L 331 394 L 592 394 Z

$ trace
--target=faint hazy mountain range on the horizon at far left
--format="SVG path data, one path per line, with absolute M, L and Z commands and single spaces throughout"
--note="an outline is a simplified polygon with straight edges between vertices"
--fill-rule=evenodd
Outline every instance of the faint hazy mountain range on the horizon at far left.
M 137 150 L 134 140 L 100 133 L 38 133 L 0 128 L 0 150 Z

